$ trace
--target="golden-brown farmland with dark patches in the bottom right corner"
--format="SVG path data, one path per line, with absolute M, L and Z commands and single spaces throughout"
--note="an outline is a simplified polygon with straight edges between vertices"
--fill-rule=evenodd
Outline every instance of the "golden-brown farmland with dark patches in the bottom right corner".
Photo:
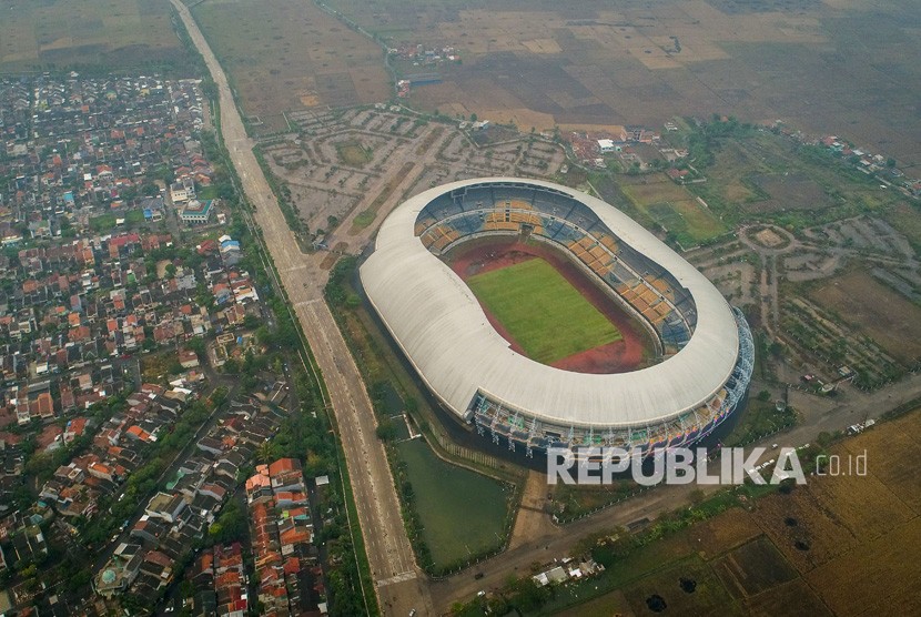
M 808 476 L 626 552 L 624 540 L 599 545 L 607 569 L 559 588 L 542 614 L 917 614 L 921 481 L 905 461 L 919 429 L 915 409 L 832 446 L 866 453 L 866 475 Z

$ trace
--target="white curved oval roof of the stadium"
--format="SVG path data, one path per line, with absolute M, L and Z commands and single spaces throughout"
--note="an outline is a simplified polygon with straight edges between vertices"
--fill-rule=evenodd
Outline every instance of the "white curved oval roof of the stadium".
M 697 305 L 697 326 L 688 344 L 655 366 L 606 375 L 554 368 L 512 351 L 469 287 L 414 233 L 419 211 L 435 198 L 490 182 L 567 193 L 593 210 L 623 243 L 668 270 Z M 709 401 L 729 380 L 739 353 L 732 310 L 694 266 L 601 200 L 537 180 L 473 179 L 411 198 L 384 221 L 361 277 L 372 304 L 422 378 L 462 416 L 479 390 L 508 408 L 555 424 L 651 424 Z

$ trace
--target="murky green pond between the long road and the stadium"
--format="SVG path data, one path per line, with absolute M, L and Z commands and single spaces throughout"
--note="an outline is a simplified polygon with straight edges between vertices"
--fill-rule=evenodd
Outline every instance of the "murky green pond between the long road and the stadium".
M 498 546 L 509 496 L 502 483 L 445 463 L 422 439 L 403 442 L 397 449 L 435 568 Z

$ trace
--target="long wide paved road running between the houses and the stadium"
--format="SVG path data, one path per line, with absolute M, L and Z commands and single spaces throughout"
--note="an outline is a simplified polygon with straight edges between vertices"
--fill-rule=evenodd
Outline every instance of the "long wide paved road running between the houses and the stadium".
M 301 253 L 253 155 L 253 142 L 246 135 L 226 75 L 208 41 L 189 9 L 180 0 L 171 1 L 217 85 L 224 143 L 243 183 L 243 191 L 255 208 L 254 219 L 262 229 L 281 282 L 326 383 L 382 613 L 408 615 L 416 609 L 419 615 L 432 614 L 427 585 L 415 566 L 386 455 L 375 434 L 376 421 L 371 399 L 323 301 L 325 272 L 318 267 L 318 257 Z M 394 193 L 401 194 L 398 191 Z

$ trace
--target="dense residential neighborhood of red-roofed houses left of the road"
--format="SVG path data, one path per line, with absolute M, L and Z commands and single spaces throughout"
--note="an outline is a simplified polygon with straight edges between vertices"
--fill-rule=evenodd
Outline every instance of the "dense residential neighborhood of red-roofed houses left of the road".
M 209 124 L 200 80 L 0 79 L 0 614 L 325 611 L 313 478 L 267 459 L 296 342 Z

